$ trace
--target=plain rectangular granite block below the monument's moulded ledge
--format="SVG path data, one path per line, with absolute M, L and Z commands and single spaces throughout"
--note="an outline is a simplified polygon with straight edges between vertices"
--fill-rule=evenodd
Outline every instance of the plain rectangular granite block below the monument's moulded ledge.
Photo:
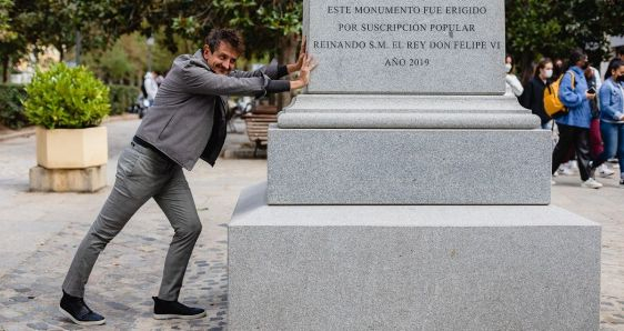
M 269 130 L 270 204 L 548 204 L 546 130 Z

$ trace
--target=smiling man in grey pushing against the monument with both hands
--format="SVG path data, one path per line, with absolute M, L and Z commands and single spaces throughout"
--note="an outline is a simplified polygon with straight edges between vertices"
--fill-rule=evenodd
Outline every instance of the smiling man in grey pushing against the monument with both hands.
M 174 60 L 153 107 L 119 158 L 111 194 L 76 252 L 62 285 L 61 313 L 81 325 L 105 322 L 82 299 L 89 274 L 104 247 L 153 198 L 175 231 L 159 294 L 153 297 L 154 318 L 205 317 L 203 309 L 178 302 L 202 228 L 182 168 L 191 170 L 199 159 L 214 165 L 225 140 L 227 96 L 263 96 L 305 87 L 312 66 L 305 42 L 301 49 L 296 63 L 235 71 L 242 39 L 234 30 L 217 29 L 207 37 L 202 50 Z M 276 80 L 294 71 L 300 71 L 299 79 Z

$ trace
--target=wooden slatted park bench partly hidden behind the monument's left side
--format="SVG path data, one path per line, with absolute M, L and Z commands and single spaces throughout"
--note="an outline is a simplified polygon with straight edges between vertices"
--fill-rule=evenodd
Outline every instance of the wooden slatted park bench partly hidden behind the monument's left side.
M 253 150 L 253 157 L 255 158 L 259 149 L 266 149 L 269 126 L 278 122 L 278 108 L 275 106 L 256 106 L 242 118 L 245 121 L 249 140 L 255 144 Z

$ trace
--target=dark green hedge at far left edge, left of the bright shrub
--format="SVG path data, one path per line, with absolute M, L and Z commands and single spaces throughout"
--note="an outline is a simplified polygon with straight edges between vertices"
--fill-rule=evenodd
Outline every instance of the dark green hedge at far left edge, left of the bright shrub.
M 26 90 L 21 84 L 0 84 L 0 122 L 11 129 L 28 126 L 22 100 Z

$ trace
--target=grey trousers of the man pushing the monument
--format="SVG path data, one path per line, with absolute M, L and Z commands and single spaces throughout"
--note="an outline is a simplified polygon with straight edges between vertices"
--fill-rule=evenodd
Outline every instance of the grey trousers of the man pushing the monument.
M 63 282 L 67 293 L 84 297 L 98 255 L 150 198 L 154 198 L 175 231 L 158 297 L 178 300 L 202 225 L 182 168 L 134 143 L 121 153 L 111 194 L 73 257 Z

